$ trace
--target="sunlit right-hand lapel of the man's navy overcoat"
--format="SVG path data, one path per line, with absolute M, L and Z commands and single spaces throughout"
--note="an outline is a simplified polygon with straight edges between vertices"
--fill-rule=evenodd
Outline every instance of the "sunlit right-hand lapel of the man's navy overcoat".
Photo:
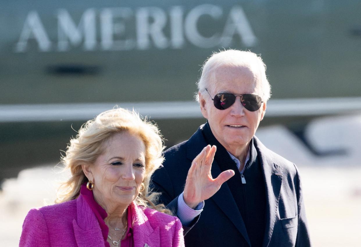
M 273 162 L 273 155 L 256 137 L 255 146 L 262 164 L 266 191 L 266 229 L 263 246 L 267 247 L 273 233 L 274 224 L 277 219 L 278 201 L 282 186 L 283 169 Z

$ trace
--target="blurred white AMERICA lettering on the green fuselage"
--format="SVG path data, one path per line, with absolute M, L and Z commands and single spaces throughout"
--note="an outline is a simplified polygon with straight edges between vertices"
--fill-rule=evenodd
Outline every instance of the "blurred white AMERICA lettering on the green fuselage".
M 242 7 L 233 6 L 226 22 L 221 23 L 224 14 L 220 6 L 212 4 L 196 6 L 188 13 L 182 6 L 172 6 L 168 13 L 159 7 L 142 7 L 135 11 L 126 7 L 89 8 L 76 25 L 68 10 L 58 9 L 57 37 L 52 40 L 38 12 L 31 11 L 25 19 L 15 51 L 26 52 L 29 40 L 35 40 L 41 52 L 65 52 L 74 47 L 83 47 L 84 51 L 145 50 L 152 47 L 180 49 L 187 44 L 200 48 L 229 47 L 234 45 L 236 35 L 246 47 L 255 46 L 257 38 Z M 204 36 L 199 25 L 203 16 L 218 22 L 223 30 L 214 29 L 212 35 Z

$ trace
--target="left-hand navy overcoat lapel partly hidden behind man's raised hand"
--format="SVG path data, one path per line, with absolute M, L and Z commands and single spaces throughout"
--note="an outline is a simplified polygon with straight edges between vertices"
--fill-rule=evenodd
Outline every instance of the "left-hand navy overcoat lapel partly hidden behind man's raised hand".
M 202 128 L 199 128 L 187 142 L 187 159 L 193 160 L 202 151 L 202 149 L 208 145 L 204 139 L 201 129 Z M 219 168 L 216 160 L 214 160 L 212 163 L 211 174 L 213 178 L 216 178 L 219 174 L 221 174 L 221 169 Z M 219 191 L 210 199 L 212 199 L 214 203 L 218 205 L 221 211 L 229 218 L 238 231 L 243 235 L 249 246 L 251 246 L 251 241 L 249 241 L 244 221 L 227 183 L 223 183 L 221 188 L 219 188 Z

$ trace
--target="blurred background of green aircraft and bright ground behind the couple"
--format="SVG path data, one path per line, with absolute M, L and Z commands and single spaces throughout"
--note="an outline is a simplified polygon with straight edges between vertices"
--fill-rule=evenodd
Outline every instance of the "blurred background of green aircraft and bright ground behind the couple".
M 61 150 L 100 112 L 188 139 L 201 65 L 228 48 L 267 65 L 256 135 L 299 167 L 314 246 L 360 246 L 361 1 L 0 0 L 0 23 L 0 246 L 53 203 Z

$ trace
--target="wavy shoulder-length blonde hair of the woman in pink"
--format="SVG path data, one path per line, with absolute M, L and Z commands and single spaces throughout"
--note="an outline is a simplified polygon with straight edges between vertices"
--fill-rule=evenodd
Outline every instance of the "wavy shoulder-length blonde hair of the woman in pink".
M 94 164 L 97 157 L 105 151 L 104 143 L 114 134 L 123 131 L 140 136 L 145 145 L 143 180 L 145 189 L 139 192 L 135 203 L 170 214 L 164 205 L 156 204 L 159 193 L 151 192 L 149 189 L 152 174 L 164 160 L 162 156 L 164 145 L 160 131 L 156 124 L 147 121 L 146 118 L 142 119 L 134 110 L 122 108 L 100 113 L 96 118 L 84 123 L 78 135 L 70 140 L 65 155 L 62 157 L 62 163 L 65 169 L 70 169 L 71 178 L 60 186 L 55 203 L 73 200 L 79 196 L 82 184 L 88 181 L 82 164 Z

